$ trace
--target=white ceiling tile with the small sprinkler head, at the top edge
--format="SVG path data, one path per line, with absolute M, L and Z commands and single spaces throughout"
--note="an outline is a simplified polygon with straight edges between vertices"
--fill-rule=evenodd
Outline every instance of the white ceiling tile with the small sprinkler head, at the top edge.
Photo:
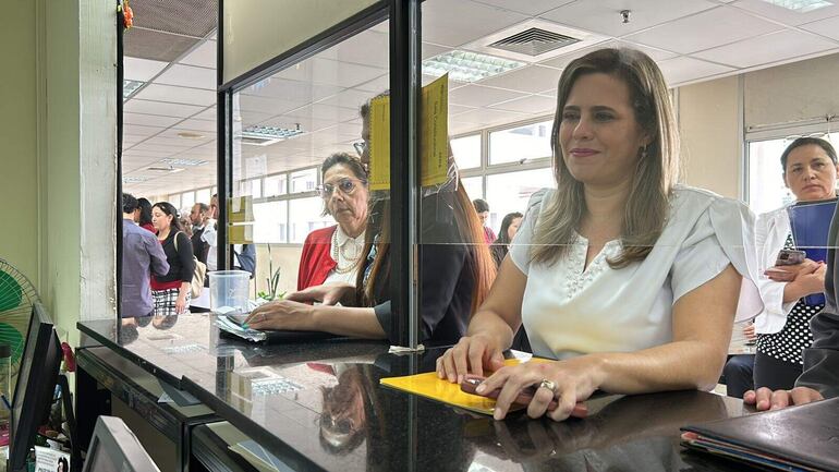
M 540 16 L 564 25 L 621 37 L 650 26 L 708 10 L 715 3 L 706 0 L 597 0 L 575 1 Z M 621 10 L 630 10 L 623 23 Z

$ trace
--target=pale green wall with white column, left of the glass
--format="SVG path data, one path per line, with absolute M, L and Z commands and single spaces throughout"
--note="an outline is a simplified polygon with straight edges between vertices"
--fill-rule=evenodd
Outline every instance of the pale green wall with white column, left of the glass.
M 0 48 L 0 257 L 75 343 L 78 319 L 115 316 L 113 3 L 4 2 Z

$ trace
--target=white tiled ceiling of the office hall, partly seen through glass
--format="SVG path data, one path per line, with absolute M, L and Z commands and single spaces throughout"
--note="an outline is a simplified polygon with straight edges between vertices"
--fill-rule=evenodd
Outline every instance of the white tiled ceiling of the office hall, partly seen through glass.
M 621 22 L 621 10 L 631 11 L 629 23 Z M 596 35 L 599 43 L 477 83 L 450 82 L 450 134 L 550 114 L 562 68 L 605 46 L 648 53 L 671 86 L 839 52 L 837 5 L 795 13 L 762 0 L 427 0 L 423 58 L 474 48 L 534 19 Z M 265 156 L 267 171 L 277 172 L 319 164 L 332 152 L 352 153 L 361 134 L 358 106 L 389 86 L 387 32 L 378 25 L 243 90 L 236 126 L 299 123 L 306 132 L 271 146 L 243 146 L 243 159 Z M 215 35 L 172 63 L 125 58 L 125 78 L 147 84 L 125 101 L 123 170 L 148 178 L 126 183 L 126 191 L 159 195 L 215 184 Z M 202 137 L 180 137 L 183 132 Z M 147 170 L 162 158 L 208 164 L 178 173 Z

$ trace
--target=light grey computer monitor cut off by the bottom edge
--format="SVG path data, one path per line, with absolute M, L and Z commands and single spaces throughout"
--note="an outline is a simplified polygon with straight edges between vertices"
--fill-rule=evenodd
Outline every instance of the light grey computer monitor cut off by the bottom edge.
M 82 472 L 160 472 L 119 417 L 99 416 Z

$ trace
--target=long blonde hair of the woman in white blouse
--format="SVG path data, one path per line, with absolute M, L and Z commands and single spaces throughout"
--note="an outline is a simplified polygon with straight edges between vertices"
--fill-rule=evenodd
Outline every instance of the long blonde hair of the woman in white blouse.
M 627 84 L 641 129 L 653 141 L 640 149 L 632 190 L 621 222 L 622 252 L 608 259 L 613 269 L 643 261 L 653 250 L 668 217 L 670 192 L 679 177 L 679 133 L 661 71 L 633 49 L 599 49 L 572 61 L 559 78 L 550 146 L 557 192 L 544 202 L 534 230 L 533 262 L 554 264 L 574 243 L 586 213 L 583 183 L 571 176 L 562 157 L 559 126 L 571 87 L 583 75 L 605 73 Z M 536 217 L 536 215 L 532 216 Z

